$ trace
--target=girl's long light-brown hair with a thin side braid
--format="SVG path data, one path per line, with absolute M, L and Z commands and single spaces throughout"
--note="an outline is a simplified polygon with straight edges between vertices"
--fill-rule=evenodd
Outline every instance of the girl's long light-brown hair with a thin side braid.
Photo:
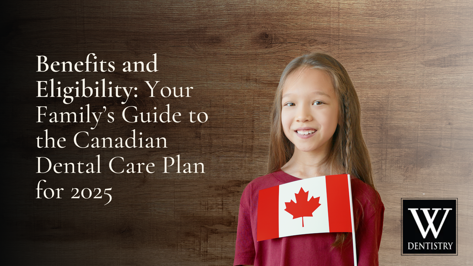
M 357 93 L 345 68 L 326 53 L 309 53 L 292 60 L 284 69 L 279 81 L 272 107 L 271 143 L 268 173 L 276 172 L 284 166 L 294 153 L 294 144 L 282 130 L 281 107 L 282 89 L 287 77 L 299 68 L 325 71 L 332 79 L 339 102 L 339 121 L 332 138 L 332 148 L 321 165 L 333 174 L 345 171 L 374 189 L 368 149 L 361 134 L 360 106 Z M 358 215 L 354 215 L 355 219 Z M 358 221 L 355 221 L 358 227 Z M 348 233 L 337 233 L 333 246 L 341 246 Z

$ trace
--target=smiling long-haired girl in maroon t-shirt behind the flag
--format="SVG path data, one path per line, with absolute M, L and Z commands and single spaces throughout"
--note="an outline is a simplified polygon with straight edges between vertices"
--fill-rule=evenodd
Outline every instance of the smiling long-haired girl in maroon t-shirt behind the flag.
M 344 173 L 352 178 L 358 265 L 378 265 L 384 205 L 373 186 L 358 96 L 332 56 L 306 54 L 282 72 L 272 108 L 268 172 L 251 181 L 241 197 L 234 265 L 353 266 L 351 233 L 256 241 L 259 190 Z

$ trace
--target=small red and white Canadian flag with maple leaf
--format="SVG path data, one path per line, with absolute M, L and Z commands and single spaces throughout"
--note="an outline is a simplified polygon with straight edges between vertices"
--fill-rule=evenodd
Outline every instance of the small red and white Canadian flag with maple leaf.
M 259 191 L 258 241 L 353 228 L 350 175 L 312 177 Z

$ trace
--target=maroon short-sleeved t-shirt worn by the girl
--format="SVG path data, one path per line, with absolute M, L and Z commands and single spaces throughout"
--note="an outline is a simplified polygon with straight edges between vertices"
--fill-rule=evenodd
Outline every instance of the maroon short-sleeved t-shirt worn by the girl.
M 351 233 L 340 248 L 333 248 L 336 233 L 317 233 L 256 241 L 258 192 L 300 180 L 283 171 L 258 177 L 245 187 L 240 200 L 233 265 L 255 266 L 353 266 Z M 351 179 L 358 266 L 377 266 L 383 231 L 384 205 L 376 190 Z

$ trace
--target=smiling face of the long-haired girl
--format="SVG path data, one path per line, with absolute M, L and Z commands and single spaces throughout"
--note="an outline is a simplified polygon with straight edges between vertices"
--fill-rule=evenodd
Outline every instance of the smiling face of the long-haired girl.
M 300 151 L 329 151 L 339 117 L 338 98 L 329 75 L 299 68 L 282 88 L 284 134 Z

